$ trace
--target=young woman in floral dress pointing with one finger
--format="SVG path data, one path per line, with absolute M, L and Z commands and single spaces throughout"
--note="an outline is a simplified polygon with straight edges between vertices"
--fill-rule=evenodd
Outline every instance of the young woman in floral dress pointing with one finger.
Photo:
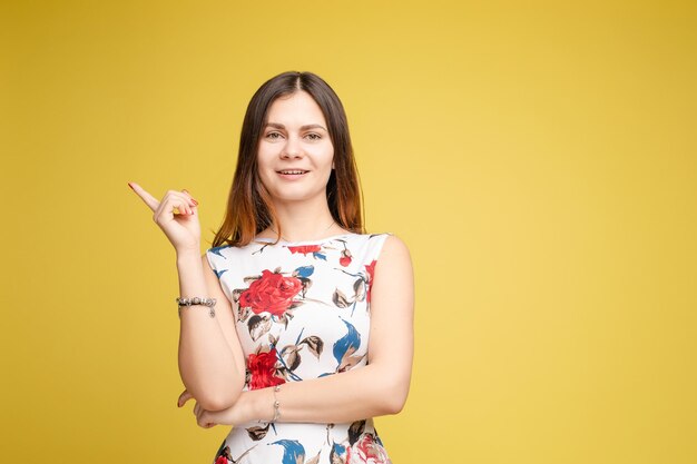
M 189 298 L 178 299 L 178 405 L 194 398 L 202 427 L 233 425 L 215 461 L 390 462 L 372 417 L 406 401 L 412 266 L 399 238 L 364 234 L 331 87 L 285 72 L 257 90 L 226 217 L 203 257 L 187 190 L 158 201 L 129 185 L 174 245 Z

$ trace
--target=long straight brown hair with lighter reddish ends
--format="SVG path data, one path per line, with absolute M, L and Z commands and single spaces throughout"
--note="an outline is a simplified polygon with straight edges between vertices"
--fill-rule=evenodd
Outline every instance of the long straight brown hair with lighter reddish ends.
M 284 72 L 271 78 L 254 93 L 239 138 L 239 155 L 227 199 L 223 225 L 213 239 L 213 246 L 223 244 L 244 246 L 269 226 L 281 227 L 257 168 L 257 151 L 267 122 L 271 105 L 279 97 L 304 90 L 317 102 L 327 122 L 334 146 L 334 169 L 326 185 L 326 199 L 334 220 L 344 229 L 362 234 L 361 187 L 356 169 L 348 122 L 344 107 L 334 90 L 312 72 Z

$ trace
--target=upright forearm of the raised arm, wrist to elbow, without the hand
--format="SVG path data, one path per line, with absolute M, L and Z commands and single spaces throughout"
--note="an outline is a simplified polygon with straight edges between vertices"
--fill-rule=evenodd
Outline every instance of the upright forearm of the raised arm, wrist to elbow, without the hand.
M 177 255 L 179 295 L 208 297 L 200 256 Z M 235 402 L 244 382 L 217 317 L 204 306 L 183 308 L 179 333 L 179 374 L 186 388 L 210 411 Z

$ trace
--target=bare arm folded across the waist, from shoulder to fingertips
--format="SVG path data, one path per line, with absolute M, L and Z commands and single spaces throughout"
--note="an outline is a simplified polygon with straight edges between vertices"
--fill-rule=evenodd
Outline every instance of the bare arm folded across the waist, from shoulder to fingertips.
M 389 237 L 375 267 L 369 364 L 326 377 L 289 382 L 276 394 L 279 422 L 341 423 L 399 413 L 406 401 L 413 358 L 413 272 L 409 250 Z M 271 388 L 243 392 L 230 408 L 195 407 L 198 424 L 271 419 Z

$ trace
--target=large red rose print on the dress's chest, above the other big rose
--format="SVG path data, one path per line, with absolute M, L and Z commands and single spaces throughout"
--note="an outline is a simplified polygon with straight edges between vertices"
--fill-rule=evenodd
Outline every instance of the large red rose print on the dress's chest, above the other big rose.
M 239 295 L 239 305 L 252 308 L 255 314 L 268 312 L 283 316 L 302 289 L 303 284 L 297 277 L 284 277 L 264 269 L 262 277 Z

